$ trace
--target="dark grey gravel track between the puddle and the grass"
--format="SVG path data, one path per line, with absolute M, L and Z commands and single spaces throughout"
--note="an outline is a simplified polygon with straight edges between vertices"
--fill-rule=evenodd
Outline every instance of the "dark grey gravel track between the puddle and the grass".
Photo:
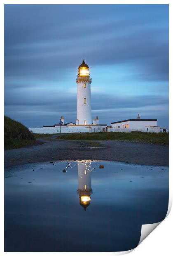
M 57 137 L 57 135 L 56 135 Z M 90 147 L 81 141 L 39 139 L 42 145 L 5 151 L 5 168 L 18 164 L 70 159 L 99 159 L 132 164 L 168 166 L 168 147 L 147 143 L 97 141 L 103 147 Z

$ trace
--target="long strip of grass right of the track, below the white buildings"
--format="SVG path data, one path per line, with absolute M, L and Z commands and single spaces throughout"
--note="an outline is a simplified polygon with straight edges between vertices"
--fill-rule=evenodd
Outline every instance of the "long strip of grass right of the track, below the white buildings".
M 57 137 L 61 140 L 120 140 L 131 142 L 145 142 L 154 143 L 160 145 L 169 144 L 168 133 L 115 133 L 115 132 L 103 132 L 103 133 L 71 133 L 62 134 Z

